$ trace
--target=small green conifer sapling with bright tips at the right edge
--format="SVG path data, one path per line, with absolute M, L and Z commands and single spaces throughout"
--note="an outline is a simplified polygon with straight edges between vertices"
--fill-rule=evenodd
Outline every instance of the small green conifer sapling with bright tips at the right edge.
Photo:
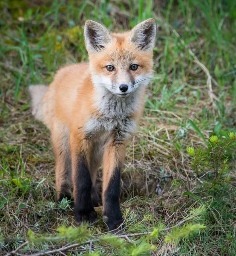
M 187 148 L 191 156 L 190 166 L 196 174 L 192 181 L 199 181 L 202 192 L 213 189 L 216 192 L 222 185 L 230 180 L 230 164 L 228 160 L 235 153 L 236 134 L 230 132 L 227 137 L 219 138 L 212 135 L 207 149 L 193 147 Z M 204 177 L 204 179 L 203 179 Z

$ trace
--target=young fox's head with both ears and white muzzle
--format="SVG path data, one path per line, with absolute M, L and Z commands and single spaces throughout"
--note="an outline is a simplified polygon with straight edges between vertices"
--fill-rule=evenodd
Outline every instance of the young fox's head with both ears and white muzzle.
M 84 38 L 95 88 L 127 97 L 147 86 L 153 76 L 155 35 L 153 18 L 120 34 L 110 33 L 100 23 L 87 20 Z

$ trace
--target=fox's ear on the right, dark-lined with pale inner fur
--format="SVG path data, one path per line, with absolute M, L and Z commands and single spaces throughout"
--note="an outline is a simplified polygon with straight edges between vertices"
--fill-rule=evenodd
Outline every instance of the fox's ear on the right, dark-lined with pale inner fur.
M 138 23 L 130 32 L 130 41 L 143 51 L 153 51 L 156 36 L 155 19 Z

